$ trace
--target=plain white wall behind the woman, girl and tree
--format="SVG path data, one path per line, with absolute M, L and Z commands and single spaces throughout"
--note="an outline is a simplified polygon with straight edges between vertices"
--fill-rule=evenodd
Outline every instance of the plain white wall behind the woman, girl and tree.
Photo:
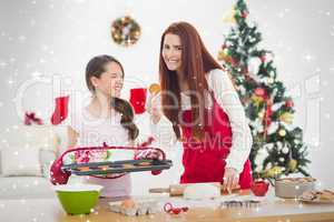
M 112 54 L 122 62 L 125 98 L 130 88 L 157 81 L 160 34 L 173 21 L 191 22 L 209 51 L 217 54 L 223 34 L 229 29 L 223 19 L 233 2 L 1 0 L 0 130 L 4 132 L 19 124 L 23 111 L 38 112 L 49 123 L 53 98 L 59 94 L 71 93 L 76 99 L 87 99 L 84 70 L 88 60 L 97 54 Z M 310 170 L 328 185 L 334 185 L 330 176 L 334 170 L 331 164 L 333 104 L 330 103 L 334 72 L 334 57 L 330 51 L 334 49 L 333 4 L 330 0 L 249 0 L 252 19 L 264 34 L 263 46 L 276 54 L 279 79 L 295 98 L 295 124 L 305 130 L 310 143 L 313 161 Z M 111 41 L 110 23 L 128 12 L 139 22 L 143 33 L 136 46 L 122 48 Z M 33 80 L 38 73 L 42 81 Z M 6 134 L 2 133 L 3 139 Z M 179 160 L 179 154 L 177 152 L 175 159 Z M 166 185 L 177 181 L 178 171 L 170 171 L 159 180 L 148 176 L 147 181 L 153 185 Z M 135 183 L 140 185 L 134 186 L 139 192 L 138 186 L 148 182 L 137 179 Z

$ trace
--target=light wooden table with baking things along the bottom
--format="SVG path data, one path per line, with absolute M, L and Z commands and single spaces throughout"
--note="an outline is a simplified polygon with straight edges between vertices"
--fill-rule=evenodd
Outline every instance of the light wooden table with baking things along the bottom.
M 173 199 L 171 199 L 173 200 Z M 177 200 L 177 199 L 175 199 Z M 239 221 L 239 222 L 315 222 L 334 221 L 334 204 L 301 204 L 295 200 L 273 200 L 258 209 L 191 208 L 187 213 L 125 216 L 108 210 L 109 200 L 100 200 L 89 215 L 67 215 L 57 199 L 0 200 L 0 221 L 26 222 L 143 222 L 143 221 Z

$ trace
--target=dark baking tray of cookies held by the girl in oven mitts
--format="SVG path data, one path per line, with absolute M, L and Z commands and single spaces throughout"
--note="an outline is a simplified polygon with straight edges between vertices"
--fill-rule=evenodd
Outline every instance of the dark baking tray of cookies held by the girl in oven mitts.
M 167 170 L 173 167 L 171 160 L 124 160 L 106 162 L 71 163 L 62 170 L 76 175 L 106 175 L 110 173 L 129 173 Z

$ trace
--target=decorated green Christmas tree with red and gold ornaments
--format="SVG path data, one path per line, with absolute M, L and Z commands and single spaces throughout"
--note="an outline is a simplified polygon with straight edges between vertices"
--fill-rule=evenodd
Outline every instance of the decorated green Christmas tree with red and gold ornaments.
M 229 72 L 245 107 L 253 134 L 249 159 L 255 178 L 291 173 L 308 175 L 303 131 L 294 128 L 294 103 L 277 79 L 273 53 L 259 48 L 262 33 L 247 21 L 248 8 L 237 0 L 225 21 L 234 23 L 225 37 L 218 60 Z

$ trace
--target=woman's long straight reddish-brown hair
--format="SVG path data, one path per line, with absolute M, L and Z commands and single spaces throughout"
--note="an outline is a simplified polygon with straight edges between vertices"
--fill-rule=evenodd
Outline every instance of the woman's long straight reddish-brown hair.
M 161 104 L 164 114 L 171 121 L 174 132 L 180 139 L 179 113 L 180 113 L 180 89 L 176 71 L 168 70 L 164 58 L 165 36 L 171 33 L 180 38 L 181 43 L 181 68 L 180 72 L 187 80 L 191 99 L 191 120 L 199 121 L 193 127 L 193 137 L 204 139 L 204 109 L 205 92 L 208 84 L 205 74 L 213 69 L 223 69 L 205 48 L 197 30 L 187 22 L 171 23 L 163 33 L 160 41 L 159 74 L 161 85 Z M 195 94 L 194 94 L 195 92 Z M 171 94 L 170 94 L 171 93 Z M 177 98 L 177 101 L 174 100 Z

